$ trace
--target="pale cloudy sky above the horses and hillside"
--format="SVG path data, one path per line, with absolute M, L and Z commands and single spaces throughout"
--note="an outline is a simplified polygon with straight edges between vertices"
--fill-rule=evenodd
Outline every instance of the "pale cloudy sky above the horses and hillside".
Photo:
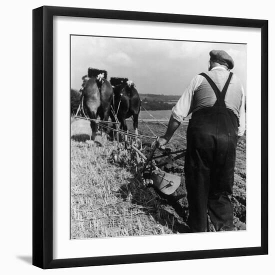
M 209 51 L 223 49 L 246 92 L 246 45 L 71 35 L 71 88 L 80 89 L 88 67 L 133 80 L 139 93 L 181 95 L 189 81 L 207 71 Z

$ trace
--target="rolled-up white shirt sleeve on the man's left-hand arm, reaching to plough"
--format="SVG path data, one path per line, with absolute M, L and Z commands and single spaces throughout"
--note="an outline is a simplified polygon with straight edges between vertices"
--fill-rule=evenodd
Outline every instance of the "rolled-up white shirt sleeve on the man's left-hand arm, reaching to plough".
M 203 76 L 196 75 L 183 91 L 182 95 L 172 108 L 172 116 L 178 122 L 183 122 L 184 118 L 191 112 L 192 98 L 194 91 L 201 83 Z

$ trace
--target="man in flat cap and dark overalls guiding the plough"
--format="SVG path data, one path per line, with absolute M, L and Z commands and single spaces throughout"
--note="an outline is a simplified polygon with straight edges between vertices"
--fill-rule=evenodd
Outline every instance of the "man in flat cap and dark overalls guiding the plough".
M 229 72 L 234 66 L 223 50 L 211 50 L 208 71 L 196 75 L 172 108 L 165 145 L 192 113 L 187 128 L 184 173 L 192 232 L 207 231 L 207 212 L 216 231 L 233 230 L 232 194 L 236 143 L 245 130 L 244 91 Z

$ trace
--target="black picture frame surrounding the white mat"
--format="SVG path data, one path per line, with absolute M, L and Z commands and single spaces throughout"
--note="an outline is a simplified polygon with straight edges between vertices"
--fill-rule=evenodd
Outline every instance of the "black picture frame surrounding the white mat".
M 123 20 L 254 27 L 261 30 L 261 245 L 214 250 L 53 259 L 53 89 L 54 15 Z M 268 253 L 268 21 L 124 10 L 41 6 L 33 9 L 33 265 L 76 267 Z

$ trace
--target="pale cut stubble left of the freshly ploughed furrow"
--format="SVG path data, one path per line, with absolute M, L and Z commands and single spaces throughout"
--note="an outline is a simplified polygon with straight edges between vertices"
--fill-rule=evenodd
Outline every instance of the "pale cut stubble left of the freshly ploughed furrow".
M 180 231 L 170 206 L 153 189 L 133 182 L 131 167 L 112 162 L 117 143 L 98 135 L 98 146 L 86 138 L 86 124 L 80 119 L 71 124 L 71 238 Z

